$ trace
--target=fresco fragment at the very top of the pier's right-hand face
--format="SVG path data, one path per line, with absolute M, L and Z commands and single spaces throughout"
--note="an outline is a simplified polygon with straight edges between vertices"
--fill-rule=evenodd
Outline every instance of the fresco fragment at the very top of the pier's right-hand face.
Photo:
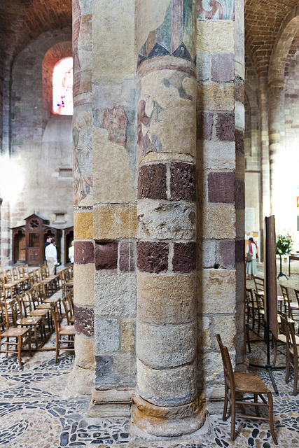
M 197 18 L 202 20 L 233 20 L 234 0 L 197 0 Z

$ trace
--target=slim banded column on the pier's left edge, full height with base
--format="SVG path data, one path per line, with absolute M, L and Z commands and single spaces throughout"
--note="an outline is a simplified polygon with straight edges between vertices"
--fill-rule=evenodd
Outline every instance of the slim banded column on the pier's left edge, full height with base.
M 65 392 L 67 398 L 91 395 L 95 375 L 91 36 L 91 1 L 73 0 L 74 314 L 76 358 Z

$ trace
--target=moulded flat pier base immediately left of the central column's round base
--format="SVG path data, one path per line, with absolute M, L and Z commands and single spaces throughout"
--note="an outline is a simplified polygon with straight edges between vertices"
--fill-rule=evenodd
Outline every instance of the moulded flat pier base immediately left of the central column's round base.
M 131 391 L 92 391 L 88 417 L 130 417 Z

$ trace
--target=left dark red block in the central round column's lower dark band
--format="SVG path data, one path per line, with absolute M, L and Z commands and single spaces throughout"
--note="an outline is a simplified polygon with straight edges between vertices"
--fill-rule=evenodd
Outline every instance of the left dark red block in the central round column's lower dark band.
M 158 272 L 168 269 L 168 244 L 139 241 L 137 244 L 137 267 L 139 271 Z

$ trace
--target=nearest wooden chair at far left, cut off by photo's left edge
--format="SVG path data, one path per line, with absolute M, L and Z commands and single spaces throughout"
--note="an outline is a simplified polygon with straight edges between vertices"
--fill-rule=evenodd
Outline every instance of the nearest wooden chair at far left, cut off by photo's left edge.
M 3 345 L 5 348 L 2 348 Z M 7 304 L 0 302 L 0 353 L 6 353 L 6 356 L 8 353 L 17 353 L 19 365 L 22 367 L 21 351 L 25 345 L 28 345 L 29 354 L 32 356 L 31 328 L 10 328 Z

